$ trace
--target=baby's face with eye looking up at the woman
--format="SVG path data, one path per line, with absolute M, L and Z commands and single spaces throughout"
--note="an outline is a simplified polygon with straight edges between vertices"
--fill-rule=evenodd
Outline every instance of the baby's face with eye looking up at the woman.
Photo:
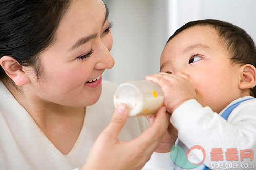
M 197 101 L 217 113 L 242 96 L 238 87 L 240 65 L 231 63 L 218 33 L 209 26 L 188 28 L 170 40 L 163 50 L 160 67 L 161 72 L 188 74 Z

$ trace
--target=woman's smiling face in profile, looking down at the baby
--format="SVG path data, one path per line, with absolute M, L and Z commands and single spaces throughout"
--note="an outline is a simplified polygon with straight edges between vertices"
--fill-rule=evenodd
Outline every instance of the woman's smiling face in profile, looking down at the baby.
M 42 76 L 33 81 L 35 75 L 30 75 L 28 92 L 45 102 L 71 107 L 96 103 L 101 94 L 101 75 L 114 66 L 107 17 L 102 1 L 71 1 L 56 39 L 40 54 Z M 96 78 L 99 80 L 89 82 Z

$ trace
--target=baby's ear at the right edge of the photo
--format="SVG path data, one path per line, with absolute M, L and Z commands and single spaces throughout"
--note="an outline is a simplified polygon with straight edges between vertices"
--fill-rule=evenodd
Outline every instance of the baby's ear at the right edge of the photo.
M 253 88 L 256 85 L 256 68 L 251 64 L 240 66 L 240 83 L 241 90 Z

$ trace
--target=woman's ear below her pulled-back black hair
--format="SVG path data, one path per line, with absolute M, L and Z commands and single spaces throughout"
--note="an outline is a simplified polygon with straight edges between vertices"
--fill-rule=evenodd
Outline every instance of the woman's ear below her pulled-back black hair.
M 23 71 L 23 66 L 20 65 L 13 57 L 1 57 L 0 65 L 17 86 L 23 86 L 30 82 L 27 74 Z

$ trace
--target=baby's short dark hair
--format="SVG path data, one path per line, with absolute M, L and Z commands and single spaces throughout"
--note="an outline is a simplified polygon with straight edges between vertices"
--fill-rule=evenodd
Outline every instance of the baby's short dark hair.
M 170 36 L 167 43 L 183 30 L 193 26 L 209 26 L 214 28 L 219 34 L 219 42 L 230 53 L 230 59 L 233 63 L 251 64 L 256 67 L 256 47 L 251 36 L 242 28 L 225 21 L 205 19 L 188 22 L 176 30 Z M 256 86 L 250 89 L 250 95 L 256 97 Z

